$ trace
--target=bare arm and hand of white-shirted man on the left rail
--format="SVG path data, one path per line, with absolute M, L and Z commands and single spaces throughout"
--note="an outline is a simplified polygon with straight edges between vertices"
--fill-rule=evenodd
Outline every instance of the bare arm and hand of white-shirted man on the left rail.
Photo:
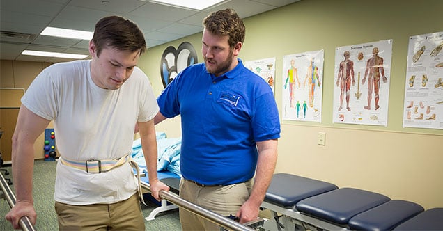
M 31 223 L 36 223 L 36 211 L 33 208 L 32 173 L 34 164 L 34 143 L 49 120 L 37 116 L 25 106 L 20 107 L 17 125 L 13 134 L 12 168 L 17 202 L 6 214 L 6 219 L 19 228 L 20 218 L 28 216 Z

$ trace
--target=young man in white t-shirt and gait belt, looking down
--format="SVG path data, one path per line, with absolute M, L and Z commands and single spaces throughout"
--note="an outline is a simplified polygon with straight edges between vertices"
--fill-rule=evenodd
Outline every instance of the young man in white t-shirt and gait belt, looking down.
M 144 230 L 130 151 L 134 126 L 141 135 L 153 196 L 169 187 L 157 179 L 153 118 L 159 108 L 148 77 L 136 67 L 146 42 L 136 24 L 110 16 L 95 25 L 92 59 L 56 63 L 22 97 L 13 135 L 17 203 L 6 219 L 36 223 L 33 146 L 54 121 L 60 158 L 54 198 L 60 230 Z

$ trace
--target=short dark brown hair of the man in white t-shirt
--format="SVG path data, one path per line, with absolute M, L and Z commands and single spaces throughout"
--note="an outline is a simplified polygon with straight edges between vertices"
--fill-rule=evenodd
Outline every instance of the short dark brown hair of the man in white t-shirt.
M 112 47 L 120 51 L 146 51 L 146 41 L 143 33 L 130 19 L 120 16 L 108 16 L 95 24 L 92 41 L 97 48 L 97 56 L 104 47 Z

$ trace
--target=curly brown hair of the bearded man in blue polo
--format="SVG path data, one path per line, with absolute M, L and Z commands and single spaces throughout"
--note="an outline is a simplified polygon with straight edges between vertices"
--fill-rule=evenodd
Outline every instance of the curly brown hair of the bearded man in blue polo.
M 244 42 L 246 29 L 243 21 L 231 8 L 210 13 L 203 19 L 203 26 L 212 34 L 228 35 L 228 43 L 231 47 L 234 47 L 237 42 Z

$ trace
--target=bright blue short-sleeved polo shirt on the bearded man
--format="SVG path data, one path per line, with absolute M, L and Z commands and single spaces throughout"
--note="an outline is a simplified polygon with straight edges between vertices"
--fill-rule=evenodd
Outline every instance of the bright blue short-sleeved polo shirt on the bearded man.
M 215 77 L 204 63 L 180 72 L 157 98 L 166 118 L 181 115 L 180 171 L 201 184 L 235 184 L 254 176 L 257 141 L 280 137 L 272 89 L 242 61 Z

